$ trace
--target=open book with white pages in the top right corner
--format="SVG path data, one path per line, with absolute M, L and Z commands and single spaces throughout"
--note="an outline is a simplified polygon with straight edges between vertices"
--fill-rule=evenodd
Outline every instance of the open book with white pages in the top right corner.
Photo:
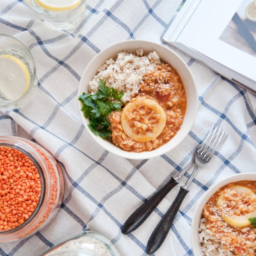
M 256 95 L 256 0 L 183 0 L 162 40 Z

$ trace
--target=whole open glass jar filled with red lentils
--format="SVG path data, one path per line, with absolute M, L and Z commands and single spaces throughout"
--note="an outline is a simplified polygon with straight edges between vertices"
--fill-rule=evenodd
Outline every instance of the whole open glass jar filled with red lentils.
M 63 194 L 61 168 L 46 149 L 0 136 L 0 243 L 42 229 L 58 212 Z

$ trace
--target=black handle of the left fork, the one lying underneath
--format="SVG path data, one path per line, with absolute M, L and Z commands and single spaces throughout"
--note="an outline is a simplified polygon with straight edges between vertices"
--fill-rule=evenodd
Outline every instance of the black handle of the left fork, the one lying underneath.
M 155 193 L 148 201 L 144 202 L 138 209 L 128 217 L 122 228 L 122 233 L 127 235 L 130 232 L 137 229 L 154 211 L 157 205 L 163 200 L 163 198 L 174 188 L 179 182 L 173 177 L 170 181 L 162 187 L 158 192 Z

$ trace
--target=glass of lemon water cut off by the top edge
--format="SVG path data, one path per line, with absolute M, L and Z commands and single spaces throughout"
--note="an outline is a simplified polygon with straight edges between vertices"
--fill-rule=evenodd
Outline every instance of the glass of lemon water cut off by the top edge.
M 24 0 L 46 23 L 60 30 L 73 29 L 85 18 L 87 0 Z

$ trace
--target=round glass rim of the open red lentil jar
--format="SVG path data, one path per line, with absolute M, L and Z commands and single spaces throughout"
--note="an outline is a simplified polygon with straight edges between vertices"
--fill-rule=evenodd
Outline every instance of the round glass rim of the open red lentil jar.
M 5 136 L 3 136 L 5 137 Z M 12 136 L 8 136 L 8 138 L 11 138 Z M 0 136 L 0 140 L 1 140 L 1 136 Z M 39 162 L 37 161 L 36 157 L 31 154 L 30 152 L 28 152 L 26 149 L 18 146 L 17 144 L 10 144 L 8 142 L 1 142 L 0 141 L 0 146 L 1 147 L 7 147 L 7 148 L 14 148 L 19 150 L 20 152 L 22 152 L 24 155 L 27 155 L 27 157 L 34 163 L 34 165 L 36 166 L 38 173 L 40 175 L 40 183 L 41 183 L 41 193 L 40 193 L 40 199 L 39 202 L 34 210 L 34 212 L 32 213 L 31 216 L 29 216 L 29 218 L 23 222 L 22 224 L 20 224 L 18 227 L 14 228 L 14 229 L 10 229 L 7 231 L 0 231 L 0 235 L 8 235 L 8 234 L 13 234 L 21 229 L 23 229 L 24 227 L 26 227 L 31 221 L 34 220 L 34 217 L 37 216 L 38 212 L 40 211 L 40 208 L 43 204 L 43 201 L 45 199 L 45 194 L 46 194 L 46 181 L 45 181 L 45 175 L 43 173 L 43 170 L 39 164 Z

